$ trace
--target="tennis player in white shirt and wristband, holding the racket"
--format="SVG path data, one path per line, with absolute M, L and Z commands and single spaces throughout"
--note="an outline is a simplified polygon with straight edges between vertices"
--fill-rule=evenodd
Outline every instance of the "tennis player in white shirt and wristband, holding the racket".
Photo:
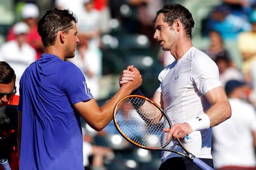
M 156 13 L 154 38 L 175 61 L 159 74 L 160 86 L 153 101 L 174 125 L 166 130 L 167 140 L 180 138 L 192 154 L 213 167 L 211 127 L 228 119 L 231 108 L 216 63 L 192 45 L 193 26 L 191 13 L 179 4 L 166 5 Z M 132 76 L 133 66 L 129 66 L 122 71 L 119 84 L 133 80 Z M 169 147 L 181 151 L 173 139 Z M 163 151 L 159 169 L 200 168 L 180 155 Z

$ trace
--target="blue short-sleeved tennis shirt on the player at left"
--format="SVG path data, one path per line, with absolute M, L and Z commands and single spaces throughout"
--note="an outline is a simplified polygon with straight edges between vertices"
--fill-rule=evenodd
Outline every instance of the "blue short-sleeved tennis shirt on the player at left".
M 20 79 L 20 170 L 84 169 L 80 116 L 72 105 L 92 99 L 73 63 L 51 54 L 32 63 Z

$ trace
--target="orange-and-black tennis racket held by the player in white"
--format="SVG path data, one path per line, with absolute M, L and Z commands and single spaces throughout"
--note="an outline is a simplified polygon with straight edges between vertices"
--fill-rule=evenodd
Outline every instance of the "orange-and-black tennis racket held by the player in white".
M 200 168 L 212 170 L 195 155 L 191 154 L 180 142 L 184 152 L 166 148 L 171 142 L 166 141 L 167 134 L 163 129 L 171 128 L 172 124 L 167 114 L 154 101 L 139 95 L 123 97 L 115 105 L 113 120 L 115 128 L 130 143 L 147 150 L 170 151 L 188 158 Z

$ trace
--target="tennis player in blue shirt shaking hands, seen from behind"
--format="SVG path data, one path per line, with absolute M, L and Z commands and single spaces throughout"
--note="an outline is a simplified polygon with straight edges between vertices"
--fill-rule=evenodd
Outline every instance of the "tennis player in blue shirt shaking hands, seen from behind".
M 20 80 L 18 147 L 20 170 L 84 169 L 80 116 L 95 130 L 112 120 L 114 105 L 142 83 L 123 86 L 101 108 L 78 67 L 65 58 L 75 56 L 79 43 L 76 18 L 68 10 L 49 10 L 39 20 L 44 54 Z

